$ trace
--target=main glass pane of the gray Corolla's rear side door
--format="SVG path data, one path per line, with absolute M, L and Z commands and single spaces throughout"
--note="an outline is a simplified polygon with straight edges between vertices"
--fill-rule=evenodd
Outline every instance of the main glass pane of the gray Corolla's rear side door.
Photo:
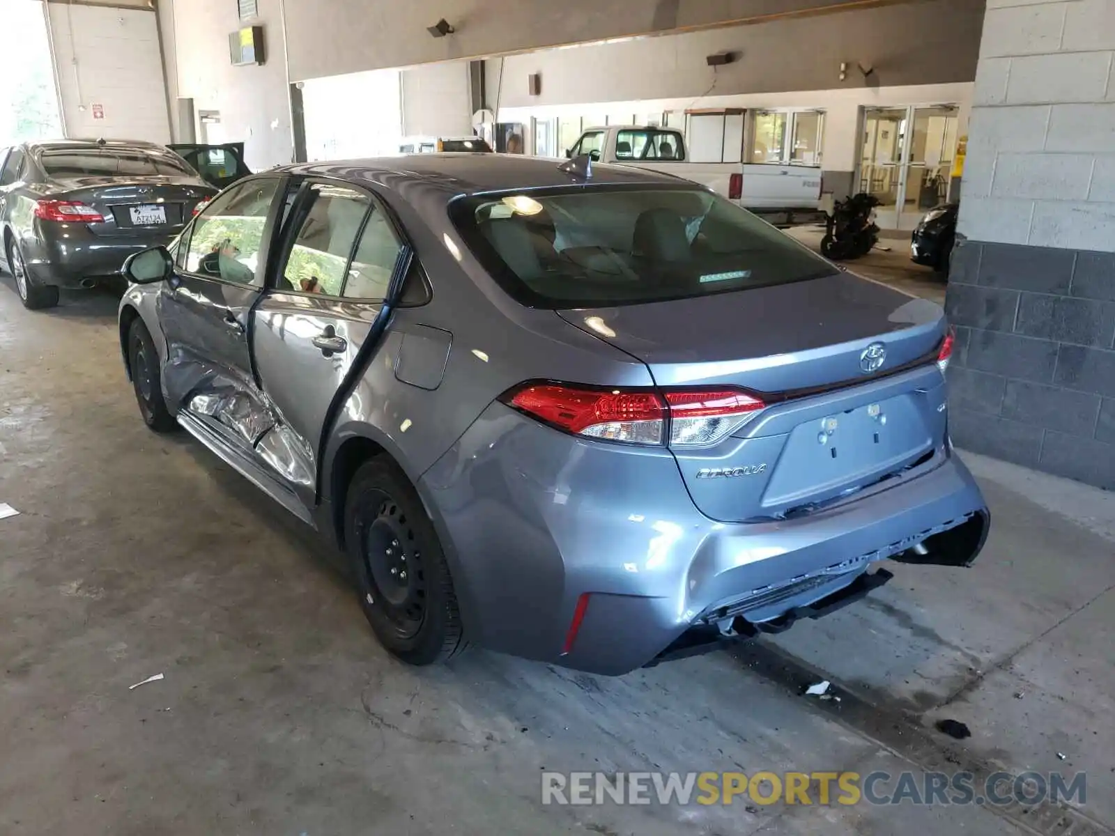
M 307 200 L 310 206 L 283 265 L 279 290 L 339 297 L 371 201 L 355 188 L 324 183 L 311 184 Z

